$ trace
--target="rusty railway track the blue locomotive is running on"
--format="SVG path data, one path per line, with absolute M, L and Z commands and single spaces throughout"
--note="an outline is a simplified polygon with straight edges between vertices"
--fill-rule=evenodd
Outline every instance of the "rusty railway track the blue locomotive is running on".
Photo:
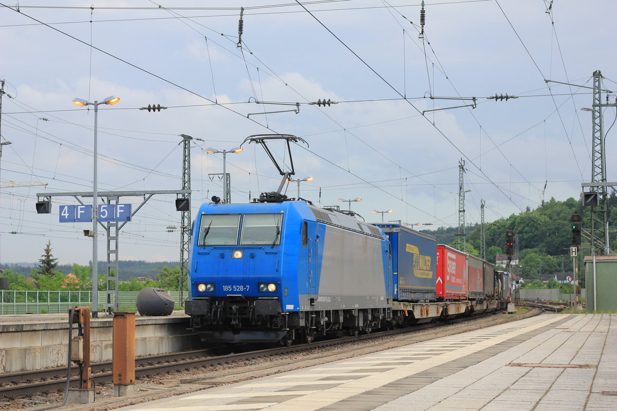
M 467 317 L 453 321 L 457 323 L 470 321 L 487 315 L 491 314 L 482 314 L 477 317 Z M 371 340 L 383 336 L 413 333 L 429 328 L 441 327 L 442 325 L 445 324 L 426 324 L 413 328 L 399 328 L 358 336 L 347 336 L 333 340 L 319 340 L 310 344 L 297 344 L 290 347 L 276 347 L 259 350 L 246 347 L 244 348 L 244 352 L 233 354 L 220 354 L 223 348 L 215 348 L 184 351 L 173 354 L 162 354 L 157 356 L 138 357 L 135 360 L 135 378 L 137 381 L 140 381 L 161 376 L 180 375 L 183 372 L 191 372 L 199 370 L 200 368 L 202 370 L 207 370 L 207 368 L 217 365 L 234 364 L 263 357 L 278 356 L 292 352 L 309 351 L 315 348 L 323 348 L 355 341 Z M 237 351 L 238 348 L 239 347 L 236 346 L 234 347 L 234 350 Z M 111 361 L 91 364 L 91 369 L 94 386 L 106 385 L 112 382 Z M 55 394 L 62 394 L 64 393 L 67 385 L 66 378 L 66 367 L 0 375 L 0 405 L 2 402 L 15 401 L 15 399 L 31 399 L 35 396 L 48 397 L 54 396 Z M 78 385 L 79 368 L 74 366 L 71 368 L 70 387 L 77 388 Z

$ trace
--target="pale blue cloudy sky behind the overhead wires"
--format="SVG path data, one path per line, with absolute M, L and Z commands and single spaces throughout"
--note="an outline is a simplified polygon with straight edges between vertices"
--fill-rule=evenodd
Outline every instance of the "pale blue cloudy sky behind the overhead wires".
M 600 70 L 617 89 L 615 27 L 603 17 L 615 15 L 612 0 L 426 1 L 423 27 L 420 2 L 405 0 L 0 4 L 0 142 L 11 143 L 0 146 L 2 263 L 36 262 L 48 242 L 60 264 L 93 257 L 92 224 L 60 222 L 74 197 L 52 196 L 50 214 L 35 208 L 41 194 L 93 191 L 94 110 L 75 97 L 120 97 L 98 106 L 99 192 L 180 190 L 185 134 L 194 218 L 222 197 L 209 176 L 222 173 L 222 154 L 207 149 L 291 134 L 304 140 L 291 146 L 294 178 L 314 178 L 300 197 L 437 229 L 458 226 L 463 161 L 467 224 L 481 221 L 482 201 L 490 222 L 579 198 L 591 179 L 586 87 Z M 140 110 L 158 104 L 167 109 Z M 615 117 L 605 110 L 608 181 Z M 281 182 L 262 147 L 242 149 L 226 155 L 234 203 Z M 289 169 L 283 146 L 271 149 Z M 297 187 L 284 190 L 297 197 Z M 118 259 L 180 260 L 175 198 L 146 201 L 121 230 Z M 101 229 L 97 245 L 104 261 Z

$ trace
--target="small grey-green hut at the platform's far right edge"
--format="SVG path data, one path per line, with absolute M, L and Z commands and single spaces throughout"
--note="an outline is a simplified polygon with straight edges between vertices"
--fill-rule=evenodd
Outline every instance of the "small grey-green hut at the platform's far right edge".
M 587 312 L 617 312 L 617 256 L 585 257 L 585 285 Z

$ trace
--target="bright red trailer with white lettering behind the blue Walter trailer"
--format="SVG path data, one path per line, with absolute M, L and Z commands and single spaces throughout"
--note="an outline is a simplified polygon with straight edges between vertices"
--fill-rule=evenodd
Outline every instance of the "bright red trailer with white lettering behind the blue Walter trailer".
M 454 248 L 437 245 L 437 299 L 467 298 L 466 254 Z

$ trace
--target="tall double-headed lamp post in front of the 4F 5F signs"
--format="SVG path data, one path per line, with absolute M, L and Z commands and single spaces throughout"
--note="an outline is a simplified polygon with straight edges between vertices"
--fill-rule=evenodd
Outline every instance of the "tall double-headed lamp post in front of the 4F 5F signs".
M 99 316 L 99 253 L 97 248 L 97 238 L 96 238 L 96 229 L 99 224 L 98 221 L 98 192 L 97 192 L 97 168 L 98 168 L 98 157 L 99 153 L 97 150 L 97 129 L 98 129 L 98 112 L 99 105 L 101 104 L 109 104 L 114 105 L 120 101 L 120 97 L 109 96 L 102 101 L 94 100 L 93 103 L 84 100 L 78 99 L 75 97 L 73 99 L 73 104 L 78 105 L 80 107 L 85 107 L 86 105 L 94 106 L 94 176 L 92 178 L 92 317 L 97 318 Z

